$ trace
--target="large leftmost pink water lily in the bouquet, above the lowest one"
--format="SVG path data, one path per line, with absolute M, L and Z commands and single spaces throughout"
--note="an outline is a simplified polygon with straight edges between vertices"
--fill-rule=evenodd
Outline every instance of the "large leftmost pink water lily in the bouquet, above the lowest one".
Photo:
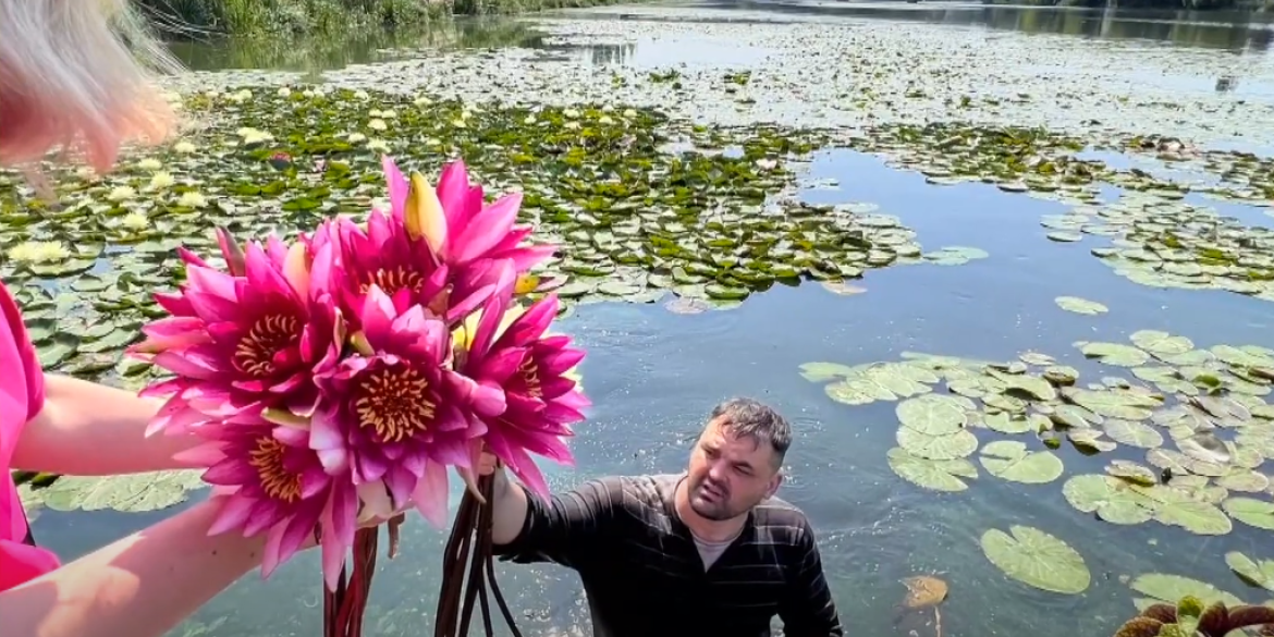
M 176 375 L 143 391 L 169 396 L 148 433 L 252 422 L 268 409 L 313 413 L 318 391 L 312 376 L 335 364 L 343 339 L 322 283 L 330 278 L 324 266 L 331 262 L 329 250 L 313 271 L 303 245 L 288 247 L 273 237 L 265 247 L 248 243 L 241 261 L 223 240 L 231 273 L 182 252 L 186 284 L 176 294 L 155 294 L 172 316 L 144 326 L 147 339 L 130 348 Z

